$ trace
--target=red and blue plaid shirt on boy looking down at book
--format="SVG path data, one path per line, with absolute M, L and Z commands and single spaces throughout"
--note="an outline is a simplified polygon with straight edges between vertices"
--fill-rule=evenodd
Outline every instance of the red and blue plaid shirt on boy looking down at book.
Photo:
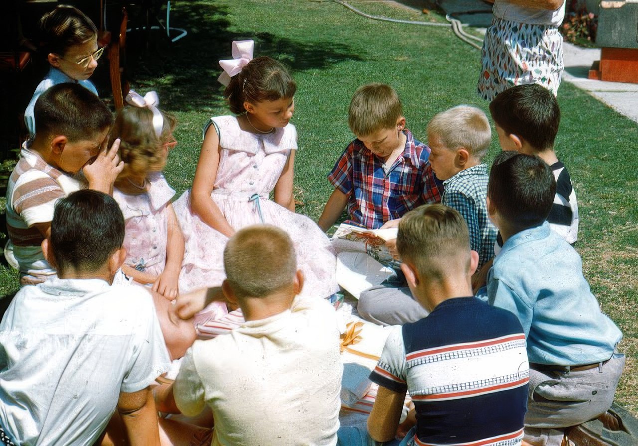
M 443 184 L 429 161 L 430 148 L 415 140 L 409 130 L 403 156 L 387 175 L 383 162 L 363 143 L 354 140 L 328 175 L 335 189 L 348 196 L 348 223 L 378 229 L 388 220 L 426 203 L 439 203 Z

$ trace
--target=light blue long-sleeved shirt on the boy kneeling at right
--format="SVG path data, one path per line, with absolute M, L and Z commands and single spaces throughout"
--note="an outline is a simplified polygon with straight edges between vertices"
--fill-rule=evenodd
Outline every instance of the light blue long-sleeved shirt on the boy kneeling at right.
M 547 222 L 505 242 L 487 276 L 487 298 L 518 316 L 530 363 L 606 361 L 623 337 L 591 294 L 580 255 Z

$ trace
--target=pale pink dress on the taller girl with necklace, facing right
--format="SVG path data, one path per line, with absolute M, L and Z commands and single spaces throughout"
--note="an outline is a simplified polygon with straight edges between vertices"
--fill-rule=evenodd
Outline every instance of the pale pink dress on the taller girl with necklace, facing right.
M 211 199 L 228 224 L 235 230 L 262 222 L 281 227 L 295 244 L 297 266 L 305 278 L 302 294 L 326 298 L 338 291 L 336 256 L 327 236 L 313 220 L 269 199 L 290 151 L 297 148 L 295 127 L 288 124 L 274 133 L 253 134 L 242 131 L 236 117 L 221 116 L 209 121 L 204 134 L 211 125 L 222 148 Z M 193 215 L 189 197 L 186 191 L 173 203 L 186 240 L 180 292 L 219 286 L 226 277 L 223 250 L 228 238 Z M 219 315 L 226 313 L 225 308 L 219 310 Z

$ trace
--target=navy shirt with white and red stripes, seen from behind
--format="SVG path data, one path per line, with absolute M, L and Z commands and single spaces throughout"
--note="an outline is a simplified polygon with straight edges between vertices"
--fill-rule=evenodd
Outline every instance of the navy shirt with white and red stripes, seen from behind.
M 410 392 L 416 445 L 521 445 L 529 364 L 508 311 L 477 298 L 443 301 L 393 328 L 370 379 Z

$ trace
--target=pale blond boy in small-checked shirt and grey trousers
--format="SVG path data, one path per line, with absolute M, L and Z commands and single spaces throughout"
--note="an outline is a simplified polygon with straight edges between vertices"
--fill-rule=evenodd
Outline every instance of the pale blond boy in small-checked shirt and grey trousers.
M 459 105 L 442 111 L 427 124 L 429 162 L 443 181 L 441 204 L 463 215 L 470 229 L 470 247 L 479 253 L 479 268 L 494 257 L 496 228 L 487 217 L 487 166 L 482 160 L 491 143 L 483 111 Z M 357 310 L 367 320 L 383 325 L 416 322 L 427 312 L 412 298 L 406 284 L 385 284 L 362 292 Z

